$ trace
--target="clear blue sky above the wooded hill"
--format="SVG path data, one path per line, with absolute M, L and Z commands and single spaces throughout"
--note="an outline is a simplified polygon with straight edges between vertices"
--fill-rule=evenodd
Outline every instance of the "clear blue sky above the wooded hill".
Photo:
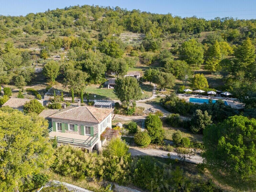
M 19 16 L 73 5 L 99 5 L 180 17 L 256 19 L 256 0 L 0 0 L 0 15 Z

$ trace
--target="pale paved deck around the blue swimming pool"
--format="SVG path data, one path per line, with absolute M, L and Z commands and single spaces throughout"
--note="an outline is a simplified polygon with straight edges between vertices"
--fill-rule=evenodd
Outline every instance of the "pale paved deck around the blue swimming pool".
M 196 98 L 198 99 L 198 95 L 192 95 L 190 94 L 190 96 L 188 96 L 188 94 L 177 94 L 177 96 L 180 98 L 180 99 L 184 99 L 186 102 L 189 102 L 189 98 Z M 201 95 L 200 99 L 210 99 L 211 97 L 208 97 L 208 96 L 205 96 L 205 95 Z M 224 97 L 213 97 L 214 99 L 213 100 L 223 100 L 223 101 L 226 101 L 228 103 L 228 105 L 232 108 L 235 108 L 235 109 L 242 109 L 244 108 L 244 104 L 243 103 L 239 103 L 239 102 L 234 102 L 236 100 L 236 98 L 229 98 L 228 100 Z M 198 103 L 198 104 L 201 104 L 201 103 Z

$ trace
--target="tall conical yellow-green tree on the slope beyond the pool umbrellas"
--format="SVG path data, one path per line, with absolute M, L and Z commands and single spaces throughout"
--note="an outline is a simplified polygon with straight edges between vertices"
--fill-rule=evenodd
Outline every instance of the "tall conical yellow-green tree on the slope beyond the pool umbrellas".
M 221 51 L 218 41 L 215 41 L 209 48 L 208 55 L 205 68 L 209 71 L 220 71 Z

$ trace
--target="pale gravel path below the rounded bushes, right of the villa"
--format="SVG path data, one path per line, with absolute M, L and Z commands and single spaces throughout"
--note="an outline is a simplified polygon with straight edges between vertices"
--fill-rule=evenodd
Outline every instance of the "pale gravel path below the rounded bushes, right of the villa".
M 179 159 L 178 154 L 176 152 L 168 152 L 163 151 L 159 149 L 143 149 L 139 147 L 130 147 L 129 152 L 131 153 L 131 156 L 143 156 L 143 155 L 149 155 L 149 156 L 155 156 L 155 157 L 162 157 L 162 158 L 171 158 L 171 159 Z M 168 156 L 168 153 L 170 153 L 170 157 Z M 203 158 L 199 155 L 193 156 L 191 159 L 185 160 L 188 163 L 202 163 Z

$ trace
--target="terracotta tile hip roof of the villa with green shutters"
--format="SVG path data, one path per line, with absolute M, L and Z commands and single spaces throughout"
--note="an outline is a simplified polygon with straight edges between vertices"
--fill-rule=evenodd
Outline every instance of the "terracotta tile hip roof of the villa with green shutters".
M 73 107 L 71 109 L 64 110 L 64 111 L 61 110 L 49 116 L 49 118 L 100 123 L 110 113 L 112 113 L 112 111 L 113 109 L 80 106 L 80 107 Z

